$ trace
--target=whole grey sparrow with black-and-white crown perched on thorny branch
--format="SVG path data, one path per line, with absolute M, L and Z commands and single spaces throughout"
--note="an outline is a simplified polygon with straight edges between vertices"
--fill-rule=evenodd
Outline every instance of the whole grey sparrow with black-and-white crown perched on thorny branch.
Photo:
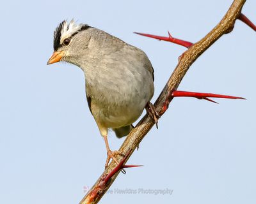
M 81 68 L 90 112 L 104 138 L 110 159 L 118 164 L 108 143 L 109 129 L 126 136 L 146 108 L 157 125 L 159 114 L 150 99 L 154 95 L 154 69 L 145 52 L 88 24 L 63 20 L 54 31 L 54 52 L 47 64 L 65 61 Z

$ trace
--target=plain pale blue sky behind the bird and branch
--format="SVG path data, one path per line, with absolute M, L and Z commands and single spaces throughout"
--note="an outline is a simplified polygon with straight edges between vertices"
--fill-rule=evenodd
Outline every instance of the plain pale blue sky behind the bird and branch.
M 0 203 L 78 203 L 104 169 L 106 149 L 87 107 L 83 72 L 46 66 L 52 35 L 75 18 L 144 50 L 154 101 L 186 49 L 132 32 L 198 41 L 232 1 L 4 1 L 1 3 Z M 256 2 L 243 9 L 253 22 Z M 243 96 L 173 100 L 111 189 L 173 189 L 172 195 L 107 194 L 101 203 L 256 203 L 255 32 L 241 22 L 189 69 L 179 89 Z M 123 140 L 109 135 L 112 149 Z

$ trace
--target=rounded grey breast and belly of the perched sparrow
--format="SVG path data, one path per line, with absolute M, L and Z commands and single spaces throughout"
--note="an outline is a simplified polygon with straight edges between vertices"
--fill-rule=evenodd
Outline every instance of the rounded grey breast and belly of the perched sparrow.
M 113 46 L 111 46 L 113 47 Z M 84 69 L 86 94 L 97 104 L 97 117 L 108 128 L 131 124 L 154 94 L 153 69 L 147 55 L 124 42 L 102 51 Z

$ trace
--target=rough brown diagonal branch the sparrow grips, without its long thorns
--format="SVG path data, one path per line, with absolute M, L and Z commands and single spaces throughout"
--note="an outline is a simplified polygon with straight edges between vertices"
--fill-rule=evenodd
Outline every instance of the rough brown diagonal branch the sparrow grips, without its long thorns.
M 159 112 L 160 115 L 163 115 L 168 108 L 168 103 L 170 103 L 170 101 L 173 99 L 172 91 L 177 89 L 191 64 L 193 64 L 193 62 L 195 62 L 195 60 L 203 52 L 205 52 L 205 50 L 207 50 L 212 43 L 223 36 L 223 34 L 227 34 L 232 31 L 236 19 L 241 15 L 241 9 L 245 1 L 246 0 L 234 0 L 221 22 L 216 25 L 216 27 L 214 27 L 214 29 L 212 29 L 212 31 L 208 33 L 202 40 L 189 47 L 189 49 L 182 54 L 177 67 L 173 71 L 170 79 L 154 104 L 157 112 Z M 166 99 L 168 99 L 167 102 Z M 143 119 L 141 119 L 136 125 L 136 127 L 132 129 L 131 133 L 127 136 L 124 143 L 120 147 L 120 151 L 127 156 L 127 159 L 129 159 L 132 152 L 136 149 L 136 147 L 138 147 L 139 143 L 141 140 L 143 140 L 144 136 L 147 135 L 152 126 L 154 126 L 154 122 L 148 115 L 145 115 Z M 118 161 L 121 159 L 121 157 L 118 157 Z M 109 164 L 108 168 L 102 173 L 92 189 L 90 189 L 90 191 L 84 196 L 80 204 L 99 202 L 100 198 L 102 198 L 104 193 L 106 193 L 108 188 L 118 176 L 118 173 L 120 173 L 119 170 L 118 173 L 115 173 L 115 175 L 108 180 L 108 182 L 105 182 L 104 185 L 102 185 L 102 178 L 106 178 L 106 175 L 108 175 L 109 172 L 115 168 L 115 166 L 116 164 L 113 162 Z

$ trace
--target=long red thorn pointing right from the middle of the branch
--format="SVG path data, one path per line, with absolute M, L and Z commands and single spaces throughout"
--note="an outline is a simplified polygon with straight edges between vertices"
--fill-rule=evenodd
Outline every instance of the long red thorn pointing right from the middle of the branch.
M 195 98 L 198 98 L 198 99 L 205 99 L 205 100 L 211 101 L 213 103 L 217 103 L 217 102 L 213 101 L 212 99 L 209 99 L 207 97 L 211 97 L 211 98 L 227 98 L 227 99 L 245 99 L 245 98 L 237 97 L 237 96 L 227 96 L 227 95 L 221 95 L 221 94 L 189 92 L 189 91 L 173 91 L 172 92 L 172 96 L 173 97 L 195 97 Z

